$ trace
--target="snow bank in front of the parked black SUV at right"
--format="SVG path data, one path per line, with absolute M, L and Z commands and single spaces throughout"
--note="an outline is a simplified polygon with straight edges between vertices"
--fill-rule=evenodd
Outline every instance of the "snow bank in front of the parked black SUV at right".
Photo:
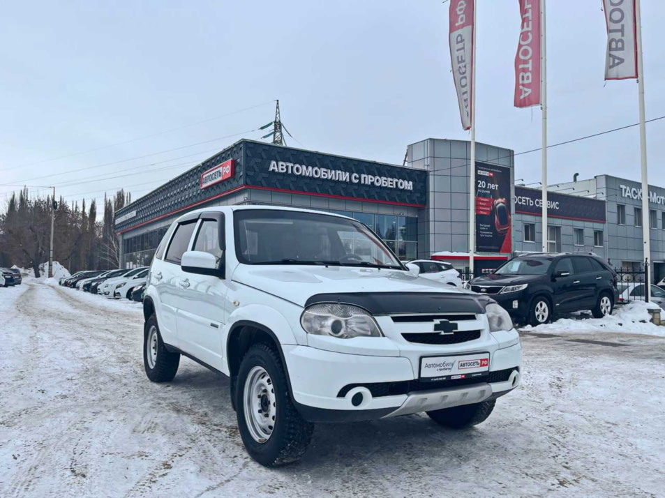
M 645 335 L 659 335 L 665 337 L 665 327 L 650 322 L 649 309 L 659 309 L 654 303 L 634 301 L 621 308 L 615 308 L 613 314 L 604 318 L 585 318 L 588 315 L 578 315 L 578 319 L 562 318 L 553 324 L 544 324 L 536 327 L 530 325 L 520 330 L 541 333 L 580 333 L 580 332 L 620 332 L 639 333 Z

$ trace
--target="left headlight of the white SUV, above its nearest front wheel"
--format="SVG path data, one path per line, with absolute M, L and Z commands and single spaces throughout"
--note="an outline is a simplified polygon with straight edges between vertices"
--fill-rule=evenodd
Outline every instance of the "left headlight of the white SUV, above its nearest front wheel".
M 362 308 L 346 304 L 311 305 L 304 310 L 300 323 L 307 333 L 340 339 L 383 335 L 372 315 Z

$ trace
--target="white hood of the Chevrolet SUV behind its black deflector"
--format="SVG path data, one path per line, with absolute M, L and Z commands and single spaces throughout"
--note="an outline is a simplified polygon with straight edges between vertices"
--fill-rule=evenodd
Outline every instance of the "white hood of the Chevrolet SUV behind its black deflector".
M 357 266 L 259 266 L 241 264 L 232 280 L 304 306 L 315 294 L 437 292 L 474 296 L 442 282 L 414 277 L 407 271 Z

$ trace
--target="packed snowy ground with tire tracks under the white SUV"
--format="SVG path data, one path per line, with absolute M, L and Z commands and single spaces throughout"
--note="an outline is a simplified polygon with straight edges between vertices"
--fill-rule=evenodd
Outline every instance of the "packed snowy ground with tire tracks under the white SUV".
M 228 381 L 142 363 L 142 313 L 0 289 L 0 496 L 665 496 L 665 339 L 527 333 L 524 385 L 465 432 L 426 416 L 317 425 L 302 462 L 245 453 Z

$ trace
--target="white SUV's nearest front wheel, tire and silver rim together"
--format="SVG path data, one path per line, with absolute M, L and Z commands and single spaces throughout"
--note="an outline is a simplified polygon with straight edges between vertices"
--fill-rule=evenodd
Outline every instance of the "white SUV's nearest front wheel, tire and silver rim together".
M 299 460 L 305 454 L 314 424 L 294 408 L 280 357 L 265 344 L 244 356 L 238 372 L 238 428 L 247 452 L 266 467 Z

